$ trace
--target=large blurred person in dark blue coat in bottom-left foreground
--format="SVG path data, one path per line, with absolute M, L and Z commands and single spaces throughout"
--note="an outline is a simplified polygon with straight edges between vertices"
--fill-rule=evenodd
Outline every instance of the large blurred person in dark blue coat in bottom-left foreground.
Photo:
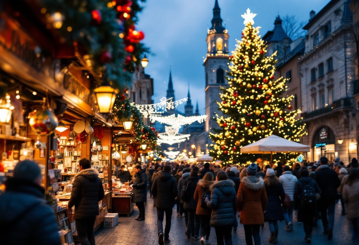
M 25 160 L 14 168 L 0 195 L 0 243 L 60 245 L 55 214 L 44 198 L 38 164 Z

